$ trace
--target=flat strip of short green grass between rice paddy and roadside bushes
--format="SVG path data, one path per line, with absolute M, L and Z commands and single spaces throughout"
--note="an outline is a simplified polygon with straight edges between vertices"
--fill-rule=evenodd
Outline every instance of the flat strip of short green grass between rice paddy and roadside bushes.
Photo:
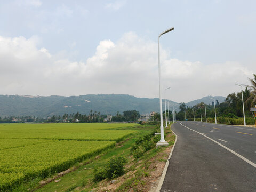
M 131 146 L 134 145 L 135 141 L 141 135 L 145 135 L 153 131 L 154 126 L 136 126 L 127 127 L 127 129 L 136 130 L 137 134 L 134 134 L 133 137 L 130 137 L 125 142 L 117 144 L 115 148 L 108 149 L 107 151 L 105 151 L 105 153 L 102 153 L 100 156 L 97 156 L 97 158 L 94 157 L 87 159 L 86 161 L 83 162 L 83 164 L 85 165 L 82 165 L 74 172 L 68 173 L 61 177 L 61 181 L 59 183 L 51 182 L 48 185 L 37 189 L 36 191 L 66 191 L 71 185 L 73 185 L 73 183 L 76 183 L 77 186 L 80 187 L 77 191 L 91 191 L 93 188 L 98 187 L 99 183 L 94 183 L 92 181 L 94 167 L 100 167 L 105 165 L 111 157 L 117 155 L 122 155 L 123 157 L 129 159 Z M 86 183 L 84 187 L 82 187 L 83 183 Z

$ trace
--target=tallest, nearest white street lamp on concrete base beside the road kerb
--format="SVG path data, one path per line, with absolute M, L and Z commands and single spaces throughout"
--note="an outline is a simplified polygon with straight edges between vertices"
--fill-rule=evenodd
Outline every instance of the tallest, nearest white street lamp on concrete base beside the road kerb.
M 165 30 L 163 33 L 161 33 L 158 36 L 158 73 L 159 73 L 159 100 L 160 100 L 160 134 L 161 134 L 161 139 L 160 141 L 157 142 L 157 146 L 167 146 L 168 142 L 164 140 L 164 126 L 163 126 L 163 109 L 162 109 L 162 95 L 161 95 L 161 66 L 160 66 L 160 51 L 159 51 L 159 38 L 172 31 L 174 27 L 171 27 L 170 29 Z

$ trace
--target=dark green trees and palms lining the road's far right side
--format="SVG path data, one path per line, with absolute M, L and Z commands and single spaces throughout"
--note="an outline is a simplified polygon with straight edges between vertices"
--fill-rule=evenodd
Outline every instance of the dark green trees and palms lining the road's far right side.
M 244 111 L 246 124 L 254 124 L 254 115 L 251 113 L 250 108 L 256 105 L 256 74 L 253 75 L 254 79 L 249 79 L 252 86 L 247 86 L 243 91 L 244 98 Z M 180 103 L 180 111 L 177 114 L 177 120 L 184 120 L 186 111 L 186 118 L 190 121 L 194 119 L 193 109 L 195 110 L 195 120 L 201 121 L 200 109 L 202 108 L 202 121 L 205 121 L 205 107 L 204 103 L 199 103 L 193 107 L 186 107 L 185 103 Z M 214 103 L 206 105 L 207 122 L 215 123 Z M 242 93 L 231 93 L 227 96 L 225 102 L 219 103 L 216 100 L 216 114 L 217 123 L 229 125 L 243 125 L 243 103 Z

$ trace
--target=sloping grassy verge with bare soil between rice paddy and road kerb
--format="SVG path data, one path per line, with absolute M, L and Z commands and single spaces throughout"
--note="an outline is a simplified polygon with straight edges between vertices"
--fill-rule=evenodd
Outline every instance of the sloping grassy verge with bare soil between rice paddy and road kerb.
M 165 129 L 165 139 L 169 141 L 169 146 L 150 149 L 140 158 L 134 158 L 130 150 L 140 137 L 152 132 L 155 128 L 156 126 L 146 125 L 125 127 L 126 130 L 136 130 L 137 132 L 130 135 L 125 141 L 117 143 L 114 148 L 107 149 L 98 156 L 77 163 L 73 167 L 74 171 L 56 179 L 61 179 L 59 182 L 52 181 L 45 186 L 40 186 L 38 183 L 41 178 L 36 178 L 23 183 L 14 191 L 130 191 L 131 189 L 133 191 L 148 191 L 147 187 L 150 185 L 145 187 L 146 183 L 149 182 L 151 185 L 156 185 L 157 179 L 162 174 L 175 136 L 170 129 Z M 93 182 L 94 168 L 106 165 L 111 157 L 118 155 L 122 155 L 127 159 L 126 173 L 116 178 L 114 184 L 110 184 L 110 180 L 107 179 Z M 54 177 L 54 175 L 49 175 L 49 178 L 51 177 Z

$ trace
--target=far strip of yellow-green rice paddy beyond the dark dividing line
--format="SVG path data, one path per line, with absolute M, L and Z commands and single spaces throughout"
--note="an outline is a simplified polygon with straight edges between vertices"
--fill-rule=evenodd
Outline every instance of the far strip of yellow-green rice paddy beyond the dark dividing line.
M 132 130 L 120 130 L 121 127 L 130 127 L 134 124 L 0 124 L 0 138 L 18 139 L 58 139 L 58 140 L 123 140 Z

